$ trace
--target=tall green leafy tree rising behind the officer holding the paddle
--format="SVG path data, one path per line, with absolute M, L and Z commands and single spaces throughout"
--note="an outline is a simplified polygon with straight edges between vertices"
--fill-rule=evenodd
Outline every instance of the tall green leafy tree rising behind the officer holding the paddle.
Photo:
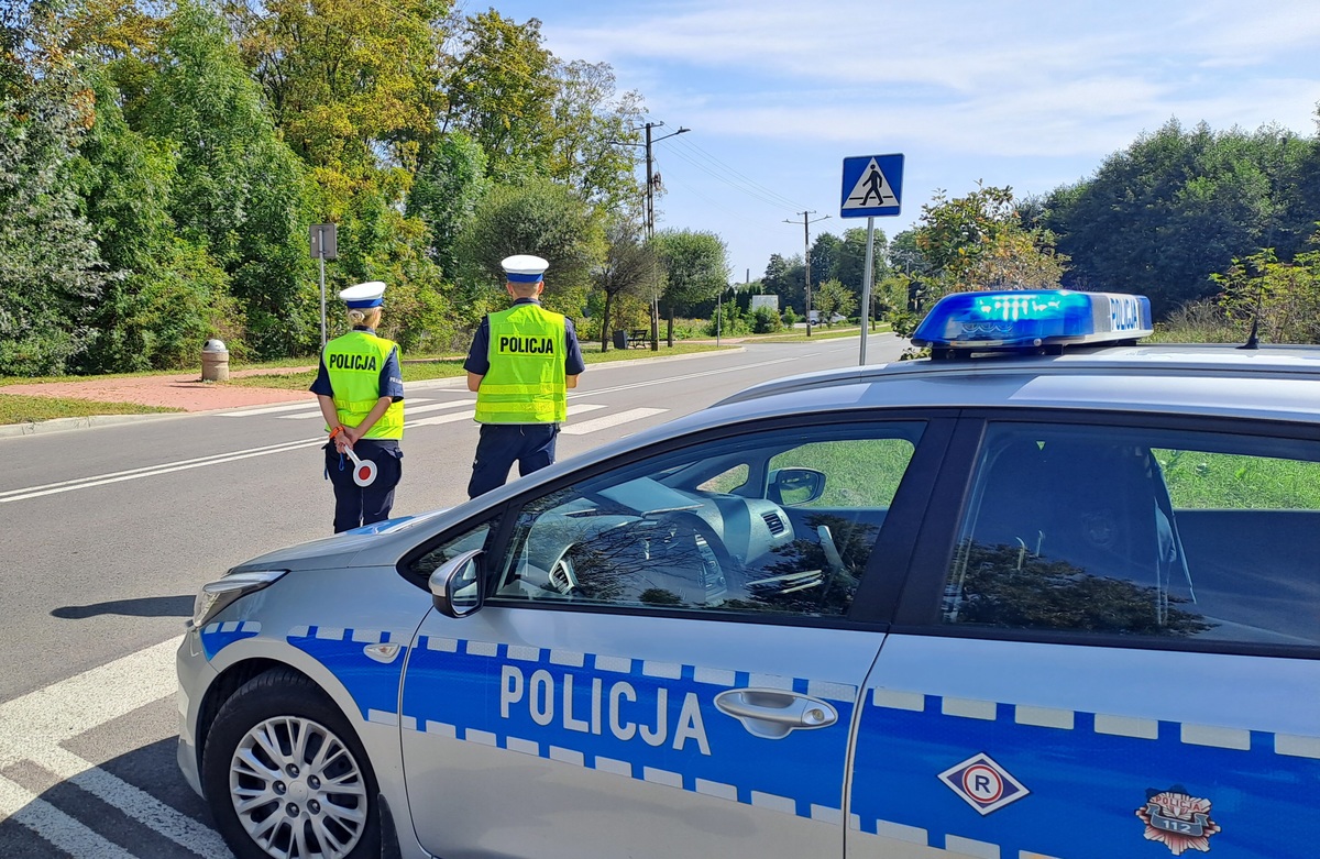
M 178 153 L 170 215 L 230 277 L 255 354 L 306 352 L 318 342 L 319 307 L 302 166 L 219 17 L 181 5 L 161 50 L 140 131 L 173 141 Z

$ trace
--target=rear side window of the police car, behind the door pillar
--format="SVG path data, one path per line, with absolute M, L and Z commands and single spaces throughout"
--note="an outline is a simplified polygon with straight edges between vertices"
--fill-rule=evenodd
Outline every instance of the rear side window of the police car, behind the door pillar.
M 972 487 L 946 624 L 1320 645 L 1320 445 L 998 425 Z

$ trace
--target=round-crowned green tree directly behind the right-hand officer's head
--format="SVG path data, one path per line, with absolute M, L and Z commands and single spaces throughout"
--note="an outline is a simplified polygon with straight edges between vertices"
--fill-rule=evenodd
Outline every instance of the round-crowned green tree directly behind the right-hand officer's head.
M 466 294 L 455 303 L 467 311 L 469 325 L 503 305 L 500 261 L 515 253 L 533 253 L 550 264 L 545 306 L 577 317 L 591 286 L 591 270 L 605 255 L 603 230 L 590 206 L 549 179 L 492 187 L 459 240 Z

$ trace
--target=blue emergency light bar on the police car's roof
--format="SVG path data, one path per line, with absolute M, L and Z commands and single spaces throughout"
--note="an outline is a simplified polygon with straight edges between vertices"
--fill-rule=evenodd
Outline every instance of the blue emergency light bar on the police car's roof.
M 921 319 L 912 344 L 940 355 L 1048 350 L 1131 342 L 1154 330 L 1146 296 L 1018 289 L 945 296 Z

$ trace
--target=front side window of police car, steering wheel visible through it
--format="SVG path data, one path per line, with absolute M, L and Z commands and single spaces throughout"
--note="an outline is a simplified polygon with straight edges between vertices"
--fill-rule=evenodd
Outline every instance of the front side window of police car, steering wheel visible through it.
M 906 421 L 725 438 L 535 499 L 519 513 L 492 599 L 843 615 L 892 496 L 861 504 L 880 499 L 847 487 L 874 467 L 896 468 L 896 486 L 921 429 Z M 871 462 L 879 442 L 882 466 Z M 805 507 L 832 491 L 837 507 Z

